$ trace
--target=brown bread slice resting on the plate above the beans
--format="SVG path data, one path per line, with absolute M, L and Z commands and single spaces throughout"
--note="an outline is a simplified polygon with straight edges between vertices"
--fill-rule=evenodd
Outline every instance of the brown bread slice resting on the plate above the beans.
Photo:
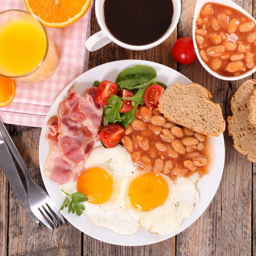
M 171 122 L 204 135 L 225 131 L 221 107 L 210 101 L 212 94 L 200 84 L 173 84 L 160 97 L 158 108 Z

